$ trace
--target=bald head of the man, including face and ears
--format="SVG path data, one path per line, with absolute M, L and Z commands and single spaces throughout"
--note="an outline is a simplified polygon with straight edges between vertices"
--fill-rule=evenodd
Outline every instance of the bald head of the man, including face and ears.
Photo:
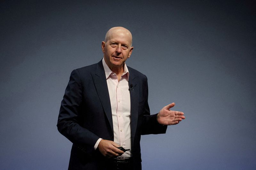
M 123 67 L 124 62 L 132 54 L 131 46 L 132 34 L 129 30 L 124 27 L 113 27 L 108 30 L 101 48 L 104 60 L 111 70 Z

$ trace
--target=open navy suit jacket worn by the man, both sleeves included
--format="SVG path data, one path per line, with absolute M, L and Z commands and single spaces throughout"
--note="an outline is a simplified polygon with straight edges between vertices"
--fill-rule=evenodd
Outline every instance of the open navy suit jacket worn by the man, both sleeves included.
M 141 169 L 140 135 L 165 133 L 167 126 L 150 115 L 147 77 L 128 67 L 131 98 L 131 144 L 134 169 Z M 127 89 L 128 90 L 128 89 Z M 61 101 L 57 127 L 72 143 L 69 169 L 101 170 L 109 159 L 94 145 L 114 141 L 111 105 L 102 61 L 73 70 Z

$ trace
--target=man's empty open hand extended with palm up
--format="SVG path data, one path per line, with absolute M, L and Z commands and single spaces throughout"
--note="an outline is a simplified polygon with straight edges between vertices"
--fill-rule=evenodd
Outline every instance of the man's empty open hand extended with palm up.
M 171 103 L 163 107 L 157 114 L 157 121 L 162 125 L 175 125 L 178 124 L 182 119 L 185 119 L 183 112 L 169 110 L 175 106 L 175 103 Z

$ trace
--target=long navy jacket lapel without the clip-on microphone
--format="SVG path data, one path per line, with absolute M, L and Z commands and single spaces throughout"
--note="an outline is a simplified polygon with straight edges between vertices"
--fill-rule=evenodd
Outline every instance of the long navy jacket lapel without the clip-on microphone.
M 101 105 L 108 118 L 108 122 L 111 126 L 112 132 L 114 133 L 111 104 L 110 104 L 109 93 L 108 93 L 108 84 L 106 81 L 106 75 L 104 72 L 102 60 L 100 60 L 100 62 L 97 63 L 96 72 L 91 74 L 92 74 L 92 78 L 93 78 L 98 96 L 100 98 Z

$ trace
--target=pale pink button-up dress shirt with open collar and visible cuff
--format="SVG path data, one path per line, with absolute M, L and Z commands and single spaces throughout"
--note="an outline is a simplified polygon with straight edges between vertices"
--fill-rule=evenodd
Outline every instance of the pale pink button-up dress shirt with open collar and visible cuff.
M 129 71 L 124 64 L 124 72 L 118 81 L 116 73 L 112 72 L 104 58 L 102 59 L 104 71 L 106 74 L 108 93 L 110 98 L 112 120 L 114 128 L 114 142 L 123 146 L 124 149 L 131 149 L 131 101 L 129 92 Z M 94 145 L 97 149 L 100 139 Z M 131 150 L 124 152 L 117 159 L 126 159 L 132 156 Z

